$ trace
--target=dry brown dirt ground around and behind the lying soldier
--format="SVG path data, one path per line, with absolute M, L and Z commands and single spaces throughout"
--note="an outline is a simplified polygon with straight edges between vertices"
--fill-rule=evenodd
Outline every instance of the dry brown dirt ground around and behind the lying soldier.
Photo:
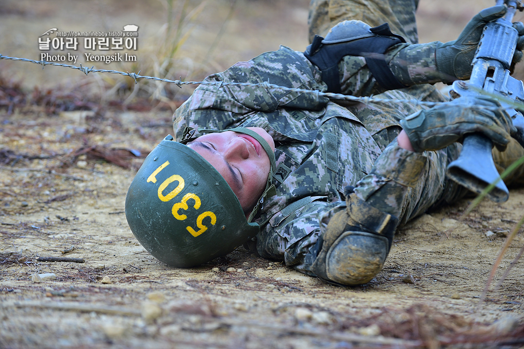
M 421 0 L 421 41 L 453 39 L 492 3 Z M 171 79 L 201 79 L 279 44 L 303 50 L 307 6 L 209 2 L 184 27 L 192 34 Z M 38 36 L 53 27 L 136 24 L 137 70 L 152 67 L 142 73 L 153 75 L 148 54 L 166 28 L 166 8 L 152 0 L 5 1 L 0 54 L 38 59 Z M 333 286 L 242 247 L 199 268 L 171 268 L 138 244 L 124 199 L 191 88 L 144 99 L 147 90 L 136 92 L 132 79 L 107 75 L 0 60 L 0 348 L 524 347 L 522 260 L 503 278 L 524 246 L 522 230 L 486 290 L 524 212 L 524 188 L 467 216 L 471 200 L 403 227 L 384 269 L 364 286 Z M 111 84 L 122 81 L 127 87 L 115 94 Z

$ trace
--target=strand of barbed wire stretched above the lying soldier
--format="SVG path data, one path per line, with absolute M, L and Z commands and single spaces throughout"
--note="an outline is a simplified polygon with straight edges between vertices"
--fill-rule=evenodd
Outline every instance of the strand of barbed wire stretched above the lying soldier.
M 182 88 L 182 85 L 216 85 L 216 86 L 260 86 L 262 88 L 271 90 L 280 90 L 280 91 L 288 91 L 288 92 L 296 92 L 296 93 L 308 93 L 308 94 L 314 94 L 315 96 L 324 96 L 327 97 L 330 100 L 345 100 L 345 101 L 352 101 L 352 102 L 362 102 L 362 103 L 411 103 L 414 105 L 424 105 L 424 106 L 434 106 L 436 104 L 440 104 L 441 102 L 425 102 L 420 101 L 417 99 L 388 99 L 388 98 L 378 98 L 373 96 L 363 96 L 363 97 L 356 97 L 351 95 L 345 95 L 341 93 L 333 93 L 333 92 L 321 92 L 316 90 L 304 90 L 304 89 L 297 89 L 297 88 L 288 88 L 285 86 L 280 86 L 276 84 L 271 84 L 268 81 L 263 83 L 248 83 L 248 82 L 225 82 L 225 81 L 182 81 L 182 80 L 170 80 L 170 79 L 162 79 L 157 77 L 150 77 L 148 75 L 140 75 L 140 71 L 138 73 L 129 73 L 129 72 L 123 72 L 118 70 L 107 70 L 107 69 L 95 69 L 94 66 L 89 67 L 82 67 L 82 64 L 80 64 L 80 67 L 77 66 L 71 66 L 70 64 L 63 64 L 63 63 L 57 63 L 57 62 L 47 62 L 47 61 L 37 61 L 34 59 L 27 59 L 27 58 L 18 58 L 18 57 L 9 57 L 4 56 L 3 54 L 0 54 L 0 59 L 7 59 L 12 61 L 23 61 L 23 62 L 30 62 L 39 64 L 42 66 L 42 69 L 45 66 L 56 66 L 56 67 L 64 67 L 64 68 L 71 68 L 82 71 L 85 75 L 88 75 L 89 73 L 110 73 L 110 74 L 119 74 L 124 75 L 126 77 L 130 77 L 133 80 L 135 80 L 135 83 L 137 82 L 137 79 L 146 79 L 146 80 L 155 80 L 160 82 L 166 82 L 166 83 L 173 83 L 179 86 L 179 88 Z

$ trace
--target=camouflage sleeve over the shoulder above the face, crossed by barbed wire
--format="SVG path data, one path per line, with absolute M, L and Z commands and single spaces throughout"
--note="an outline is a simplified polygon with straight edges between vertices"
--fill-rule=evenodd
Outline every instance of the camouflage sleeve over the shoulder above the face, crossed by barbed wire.
M 287 47 L 238 62 L 210 75 L 205 83 L 174 113 L 177 139 L 185 126 L 227 129 L 241 125 L 253 113 L 271 113 L 283 107 L 321 110 L 328 103 L 316 93 L 325 90 L 316 69 L 301 52 Z M 303 91 L 279 90 L 268 84 Z

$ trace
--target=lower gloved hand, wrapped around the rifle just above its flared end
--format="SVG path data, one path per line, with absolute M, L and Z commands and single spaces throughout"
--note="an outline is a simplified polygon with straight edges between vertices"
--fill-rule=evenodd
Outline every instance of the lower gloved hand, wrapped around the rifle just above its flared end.
M 438 150 L 467 133 L 479 132 L 503 151 L 511 133 L 517 131 L 511 117 L 497 101 L 486 97 L 460 97 L 429 110 L 411 114 L 400 121 L 415 151 Z M 495 109 L 494 109 L 495 108 Z

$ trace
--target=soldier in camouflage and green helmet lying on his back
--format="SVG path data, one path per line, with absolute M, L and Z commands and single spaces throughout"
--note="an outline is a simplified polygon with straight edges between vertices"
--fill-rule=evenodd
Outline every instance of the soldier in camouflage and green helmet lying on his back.
M 501 167 L 523 154 L 497 102 L 446 101 L 431 85 L 469 78 L 482 29 L 505 6 L 483 10 L 455 41 L 419 45 L 416 1 L 356 3 L 313 0 L 311 30 L 359 15 L 378 25 L 383 18 L 369 14 L 380 13 L 401 36 L 343 21 L 305 53 L 281 47 L 211 75 L 206 81 L 217 84 L 200 85 L 178 108 L 176 141 L 167 137 L 151 152 L 126 198 L 129 226 L 152 255 L 189 267 L 247 243 L 305 274 L 365 283 L 398 226 L 467 192 L 445 176 L 464 134 L 491 139 Z M 520 50 L 524 26 L 515 26 Z M 316 91 L 397 102 L 342 105 Z M 428 109 L 410 100 L 442 103 Z

